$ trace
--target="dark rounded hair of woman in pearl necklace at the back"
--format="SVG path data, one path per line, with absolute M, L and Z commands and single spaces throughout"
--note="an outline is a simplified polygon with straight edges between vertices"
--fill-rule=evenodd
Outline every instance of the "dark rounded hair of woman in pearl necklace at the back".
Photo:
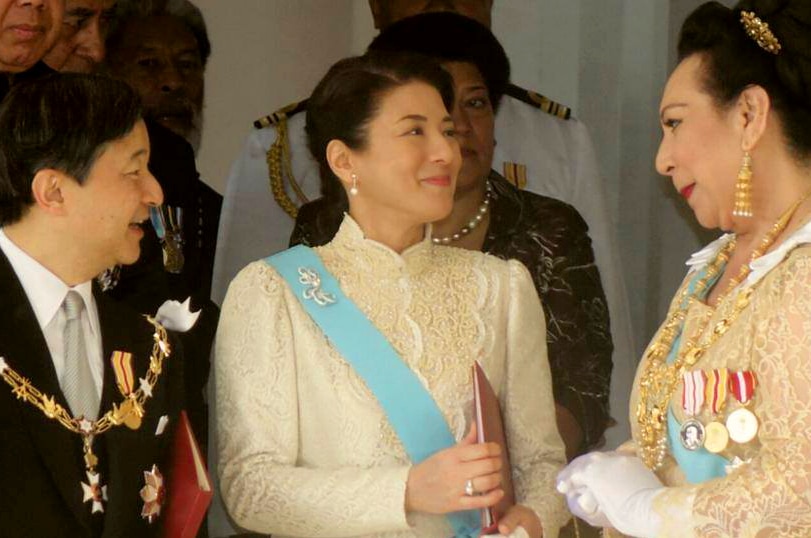
M 368 50 L 472 63 L 484 78 L 494 109 L 498 109 L 510 82 L 510 61 L 493 32 L 458 13 L 422 13 L 397 21 L 380 32 Z

